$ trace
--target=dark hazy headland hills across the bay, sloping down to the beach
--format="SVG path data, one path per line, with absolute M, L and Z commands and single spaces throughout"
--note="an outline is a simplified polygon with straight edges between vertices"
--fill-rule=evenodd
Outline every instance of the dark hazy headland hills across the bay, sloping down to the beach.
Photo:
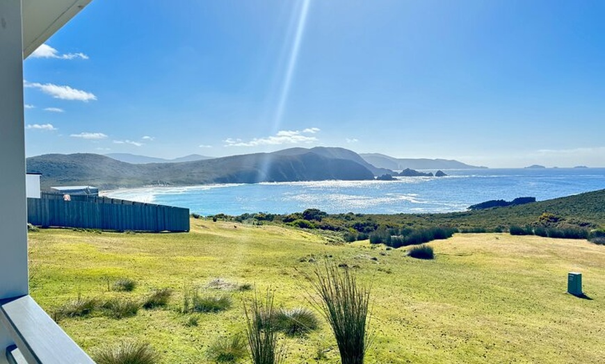
M 28 172 L 42 173 L 42 188 L 94 185 L 101 189 L 144 185 L 369 180 L 392 173 L 343 148 L 292 148 L 182 163 L 130 164 L 98 154 L 45 154 L 27 158 Z

